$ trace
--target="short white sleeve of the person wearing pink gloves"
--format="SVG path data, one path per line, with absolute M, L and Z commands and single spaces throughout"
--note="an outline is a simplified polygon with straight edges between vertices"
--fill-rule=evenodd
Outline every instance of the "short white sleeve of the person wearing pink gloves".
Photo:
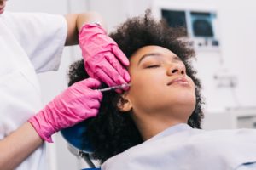
M 67 37 L 64 16 L 42 13 L 7 13 L 6 24 L 37 72 L 56 71 Z

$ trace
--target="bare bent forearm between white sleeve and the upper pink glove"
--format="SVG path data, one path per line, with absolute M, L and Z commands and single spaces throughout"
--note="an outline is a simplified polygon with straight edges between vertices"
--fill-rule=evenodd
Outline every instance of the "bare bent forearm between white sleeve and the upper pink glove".
M 100 14 L 95 12 L 88 12 L 83 14 L 67 14 L 67 39 L 65 45 L 74 45 L 79 43 L 79 30 L 86 23 L 98 22 L 107 30 L 107 26 Z

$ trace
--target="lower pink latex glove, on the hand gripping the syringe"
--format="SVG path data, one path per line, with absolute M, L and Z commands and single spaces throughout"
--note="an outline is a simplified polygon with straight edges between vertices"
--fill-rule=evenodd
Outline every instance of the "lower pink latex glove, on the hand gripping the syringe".
M 98 88 L 100 84 L 94 78 L 74 83 L 28 122 L 32 123 L 42 139 L 52 142 L 53 133 L 97 115 L 102 93 L 93 88 Z

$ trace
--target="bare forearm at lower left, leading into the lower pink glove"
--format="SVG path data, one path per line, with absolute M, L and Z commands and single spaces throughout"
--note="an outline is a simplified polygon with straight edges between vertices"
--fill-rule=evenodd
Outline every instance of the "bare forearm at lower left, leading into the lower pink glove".
M 26 122 L 14 133 L 0 140 L 0 169 L 18 167 L 41 144 L 43 140 L 32 125 Z

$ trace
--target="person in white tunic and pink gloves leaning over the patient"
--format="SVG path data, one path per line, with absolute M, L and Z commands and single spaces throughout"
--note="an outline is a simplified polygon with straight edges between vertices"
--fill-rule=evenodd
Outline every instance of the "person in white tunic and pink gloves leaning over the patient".
M 102 94 L 94 89 L 100 81 L 129 82 L 129 61 L 99 14 L 11 13 L 5 5 L 0 0 L 0 169 L 43 170 L 44 140 L 52 142 L 61 128 L 96 116 Z M 64 46 L 78 43 L 94 78 L 67 88 L 42 109 L 36 74 L 57 70 Z

